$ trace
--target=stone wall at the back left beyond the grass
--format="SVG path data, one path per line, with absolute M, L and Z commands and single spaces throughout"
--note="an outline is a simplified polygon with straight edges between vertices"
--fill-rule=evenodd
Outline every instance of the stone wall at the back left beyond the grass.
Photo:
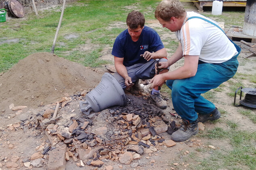
M 17 1 L 19 1 L 24 7 L 25 14 L 34 12 L 32 0 L 17 0 Z M 66 0 L 66 2 L 71 2 L 71 1 L 75 1 L 75 0 Z M 7 10 L 8 16 L 13 17 L 11 15 L 11 12 L 9 11 L 8 2 L 9 0 L 0 0 L 0 9 L 5 8 Z M 46 8 L 49 6 L 63 4 L 63 0 L 35 0 L 35 3 L 36 3 L 37 10 L 40 10 L 42 8 Z

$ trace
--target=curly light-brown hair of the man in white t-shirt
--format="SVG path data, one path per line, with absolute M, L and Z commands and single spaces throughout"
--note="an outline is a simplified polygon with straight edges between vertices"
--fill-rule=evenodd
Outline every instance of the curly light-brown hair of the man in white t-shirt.
M 171 17 L 184 17 L 185 9 L 180 0 L 163 0 L 154 12 L 154 17 L 170 21 Z

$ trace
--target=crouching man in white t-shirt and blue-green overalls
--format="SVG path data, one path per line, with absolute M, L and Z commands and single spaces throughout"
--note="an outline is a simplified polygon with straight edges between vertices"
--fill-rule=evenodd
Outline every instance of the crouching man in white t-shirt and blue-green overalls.
M 157 6 L 155 17 L 163 27 L 175 32 L 180 41 L 171 58 L 159 62 L 159 68 L 167 68 L 181 58 L 184 58 L 184 65 L 155 76 L 150 83 L 154 88 L 167 80 L 173 107 L 183 120 L 171 139 L 185 141 L 198 133 L 198 122 L 220 118 L 215 105 L 201 94 L 235 75 L 241 49 L 228 39 L 215 21 L 186 12 L 179 0 L 163 0 Z

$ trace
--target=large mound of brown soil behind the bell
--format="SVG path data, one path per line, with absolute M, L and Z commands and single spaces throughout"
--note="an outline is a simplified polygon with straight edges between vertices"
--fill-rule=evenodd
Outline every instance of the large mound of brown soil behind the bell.
M 10 104 L 35 108 L 83 89 L 90 90 L 101 80 L 93 70 L 55 54 L 36 53 L 20 60 L 0 76 L 0 108 Z

